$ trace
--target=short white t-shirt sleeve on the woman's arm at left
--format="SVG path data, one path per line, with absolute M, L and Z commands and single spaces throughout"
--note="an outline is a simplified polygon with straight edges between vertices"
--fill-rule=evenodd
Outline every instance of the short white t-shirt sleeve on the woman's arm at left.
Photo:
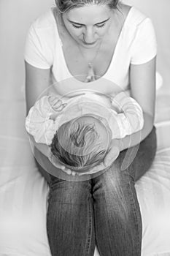
M 48 35 L 45 31 L 37 29 L 34 23 L 28 30 L 24 59 L 39 69 L 50 69 L 52 65 L 52 53 L 48 47 Z

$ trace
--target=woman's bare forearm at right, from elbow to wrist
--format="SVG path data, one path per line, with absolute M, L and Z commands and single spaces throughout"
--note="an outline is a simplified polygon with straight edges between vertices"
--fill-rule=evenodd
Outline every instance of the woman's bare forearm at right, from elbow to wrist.
M 147 135 L 150 134 L 153 127 L 153 118 L 147 113 L 144 113 L 144 127 L 139 131 L 135 132 L 132 135 L 125 136 L 121 140 L 120 143 L 120 151 L 123 151 L 126 148 L 130 148 L 132 146 L 136 146 L 139 144 L 142 140 L 144 140 Z

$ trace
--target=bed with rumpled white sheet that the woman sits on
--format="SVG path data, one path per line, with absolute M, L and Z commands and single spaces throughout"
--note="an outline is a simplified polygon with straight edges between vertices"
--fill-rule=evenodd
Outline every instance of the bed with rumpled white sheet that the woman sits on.
M 170 52 L 166 39 L 158 40 L 161 76 L 157 78 L 162 84 L 155 111 L 158 149 L 152 167 L 136 183 L 142 211 L 142 256 L 170 256 Z M 18 65 L 23 69 L 21 57 Z M 12 72 L 16 75 L 15 69 Z M 1 86 L 0 93 L 0 255 L 51 256 L 46 232 L 49 187 L 34 162 L 24 129 L 23 83 L 16 86 L 15 75 L 7 86 Z M 97 249 L 94 256 L 99 256 Z

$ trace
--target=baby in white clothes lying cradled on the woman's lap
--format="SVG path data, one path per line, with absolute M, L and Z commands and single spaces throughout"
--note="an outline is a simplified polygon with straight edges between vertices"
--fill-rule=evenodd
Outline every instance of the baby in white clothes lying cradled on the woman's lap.
M 44 96 L 29 110 L 26 130 L 36 143 L 46 143 L 56 161 L 78 172 L 98 165 L 112 139 L 124 138 L 142 129 L 142 108 L 121 92 L 114 98 L 85 91 L 62 99 Z

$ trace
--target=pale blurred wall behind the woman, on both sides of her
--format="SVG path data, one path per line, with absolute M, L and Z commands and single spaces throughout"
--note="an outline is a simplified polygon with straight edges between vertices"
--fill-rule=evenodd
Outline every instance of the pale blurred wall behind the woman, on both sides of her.
M 170 93 L 170 1 L 124 0 L 152 18 L 158 38 L 158 71 Z M 0 0 L 0 97 L 23 98 L 23 49 L 31 21 L 54 0 Z

